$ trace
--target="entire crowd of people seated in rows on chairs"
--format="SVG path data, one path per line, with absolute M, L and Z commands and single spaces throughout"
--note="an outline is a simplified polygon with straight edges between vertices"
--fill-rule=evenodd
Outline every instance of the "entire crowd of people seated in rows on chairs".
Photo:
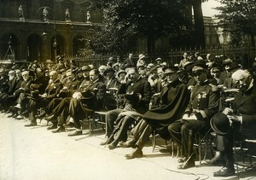
M 168 66 L 161 58 L 147 63 L 145 55 L 135 59 L 130 54 L 125 61 L 110 57 L 106 65 L 76 67 L 59 56 L 48 67 L 38 62 L 1 67 L 1 112 L 29 119 L 25 126 L 45 119 L 53 133 L 70 125 L 75 131 L 68 136 L 79 136 L 81 122 L 104 110 L 108 138 L 100 145 L 132 147 L 125 158 L 140 158 L 154 131 L 177 143 L 178 169 L 195 166 L 195 134 L 214 131 L 216 154 L 207 163 L 224 165 L 213 176 L 231 176 L 233 136 L 256 137 L 256 66 L 243 69 L 230 59 L 218 64 L 209 57 L 195 53 L 192 59 L 184 53 L 179 64 Z

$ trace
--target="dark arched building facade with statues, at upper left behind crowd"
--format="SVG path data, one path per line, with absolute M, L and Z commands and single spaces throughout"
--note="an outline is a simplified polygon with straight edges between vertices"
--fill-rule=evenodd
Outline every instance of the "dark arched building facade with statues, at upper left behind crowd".
M 0 59 L 55 61 L 55 55 L 79 55 L 102 25 L 102 11 L 89 7 L 90 0 L 0 0 Z

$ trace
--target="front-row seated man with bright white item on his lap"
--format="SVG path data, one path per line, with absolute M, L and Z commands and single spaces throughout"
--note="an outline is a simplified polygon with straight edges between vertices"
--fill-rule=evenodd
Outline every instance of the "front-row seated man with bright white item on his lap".
M 99 110 L 103 106 L 106 94 L 106 84 L 97 69 L 90 70 L 90 84 L 83 92 L 73 95 L 69 105 L 69 115 L 73 118 L 76 131 L 68 136 L 82 135 L 80 120 L 86 118 L 88 114 Z

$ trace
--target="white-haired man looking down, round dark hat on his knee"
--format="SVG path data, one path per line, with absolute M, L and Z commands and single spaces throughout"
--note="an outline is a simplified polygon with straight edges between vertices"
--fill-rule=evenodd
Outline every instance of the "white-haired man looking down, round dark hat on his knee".
M 214 177 L 229 177 L 235 174 L 233 160 L 234 136 L 239 139 L 256 139 L 256 85 L 254 79 L 244 70 L 237 70 L 232 79 L 239 87 L 233 108 L 226 107 L 217 113 L 212 121 L 212 129 L 217 133 L 215 148 L 217 153 L 208 163 L 216 164 L 225 160 L 225 166 L 213 173 Z M 233 128 L 230 126 L 232 122 Z M 254 150 L 255 151 L 255 150 Z

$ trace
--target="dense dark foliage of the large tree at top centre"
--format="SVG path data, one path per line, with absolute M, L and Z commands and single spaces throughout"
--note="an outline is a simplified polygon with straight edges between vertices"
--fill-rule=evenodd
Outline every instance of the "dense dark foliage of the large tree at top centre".
M 96 0 L 92 8 L 103 9 L 104 26 L 92 46 L 101 52 L 133 51 L 137 38 L 154 40 L 180 30 L 183 3 L 178 0 Z

